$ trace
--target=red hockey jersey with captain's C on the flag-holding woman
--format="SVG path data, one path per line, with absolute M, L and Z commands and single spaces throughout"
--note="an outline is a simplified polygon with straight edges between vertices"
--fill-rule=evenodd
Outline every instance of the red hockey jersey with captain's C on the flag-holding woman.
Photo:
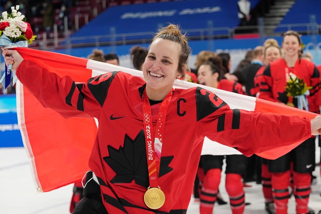
M 142 116 L 145 81 L 112 72 L 75 83 L 30 60 L 23 60 L 16 74 L 45 107 L 66 118 L 99 120 L 89 167 L 98 177 L 108 213 L 186 213 L 205 136 L 247 156 L 311 136 L 308 119 L 230 109 L 200 87 L 175 89 L 158 169 L 166 201 L 159 210 L 150 210 L 143 201 L 149 186 Z M 151 106 L 154 130 L 159 107 Z

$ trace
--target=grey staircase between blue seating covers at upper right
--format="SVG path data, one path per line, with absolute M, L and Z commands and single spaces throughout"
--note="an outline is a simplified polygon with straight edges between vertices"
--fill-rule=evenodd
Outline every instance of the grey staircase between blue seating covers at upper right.
M 269 13 L 265 14 L 265 35 L 275 36 L 275 28 L 280 24 L 286 13 L 289 12 L 296 0 L 275 0 L 270 6 Z

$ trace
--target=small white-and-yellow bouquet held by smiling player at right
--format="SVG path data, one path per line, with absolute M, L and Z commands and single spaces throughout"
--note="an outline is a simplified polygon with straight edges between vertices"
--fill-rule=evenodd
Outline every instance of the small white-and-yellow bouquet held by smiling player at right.
M 304 82 L 303 79 L 299 79 L 295 74 L 290 73 L 289 77 L 287 77 L 288 81 L 285 86 L 285 90 L 287 93 L 286 96 L 289 97 L 289 102 L 287 103 L 288 106 L 293 105 L 293 98 L 298 98 L 298 108 L 299 109 L 304 109 L 306 111 L 309 110 L 308 106 L 308 99 L 307 95 L 309 95 L 309 89 L 312 87 L 307 87 L 307 83 Z

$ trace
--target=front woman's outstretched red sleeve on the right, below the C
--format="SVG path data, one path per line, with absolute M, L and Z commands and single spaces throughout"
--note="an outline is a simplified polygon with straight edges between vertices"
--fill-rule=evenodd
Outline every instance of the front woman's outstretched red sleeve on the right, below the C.
M 218 96 L 200 87 L 196 89 L 196 114 L 199 134 L 247 156 L 311 137 L 307 118 L 230 109 Z

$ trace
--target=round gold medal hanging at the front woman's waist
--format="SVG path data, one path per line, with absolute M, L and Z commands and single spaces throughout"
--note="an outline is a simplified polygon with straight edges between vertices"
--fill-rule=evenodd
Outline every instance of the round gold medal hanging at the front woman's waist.
M 144 195 L 144 202 L 146 206 L 151 209 L 159 209 L 165 203 L 165 194 L 163 191 L 161 191 L 160 187 L 148 187 L 148 190 Z

